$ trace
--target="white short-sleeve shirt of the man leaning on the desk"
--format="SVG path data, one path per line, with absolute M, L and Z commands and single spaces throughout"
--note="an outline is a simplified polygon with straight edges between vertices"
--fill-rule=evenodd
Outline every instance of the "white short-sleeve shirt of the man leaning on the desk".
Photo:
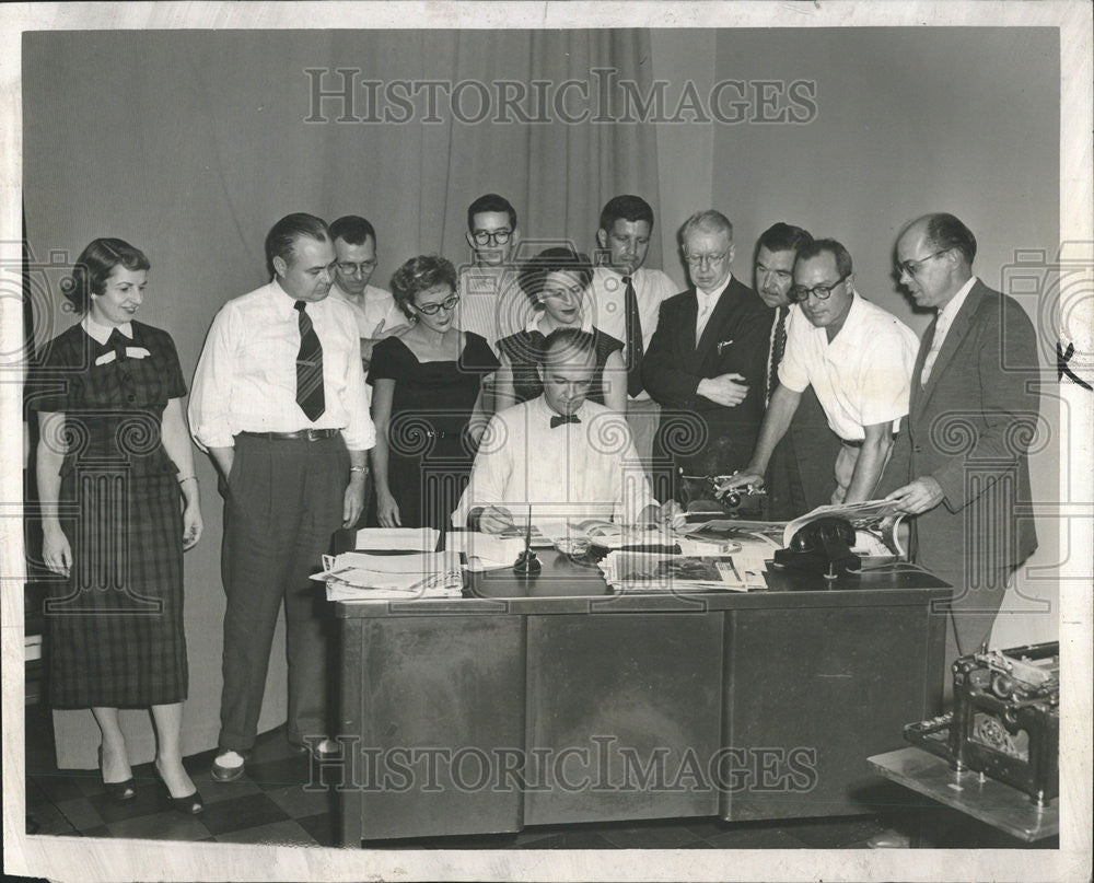
M 828 426 L 846 441 L 862 441 L 863 428 L 876 423 L 892 421 L 893 431 L 899 429 L 919 349 L 911 328 L 858 292 L 831 342 L 798 304 L 788 322 L 779 383 L 795 393 L 812 384 Z

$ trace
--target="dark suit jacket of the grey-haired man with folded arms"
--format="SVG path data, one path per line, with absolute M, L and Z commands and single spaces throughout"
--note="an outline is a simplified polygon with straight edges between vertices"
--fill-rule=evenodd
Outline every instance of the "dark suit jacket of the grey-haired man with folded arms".
M 642 360 L 645 388 L 663 408 L 654 456 L 694 474 L 732 472 L 747 464 L 764 420 L 770 313 L 756 292 L 734 278 L 718 299 L 698 346 L 697 314 L 694 288 L 662 303 Z M 748 384 L 747 396 L 736 407 L 696 393 L 703 377 L 734 372 Z M 664 490 L 659 490 L 663 497 Z

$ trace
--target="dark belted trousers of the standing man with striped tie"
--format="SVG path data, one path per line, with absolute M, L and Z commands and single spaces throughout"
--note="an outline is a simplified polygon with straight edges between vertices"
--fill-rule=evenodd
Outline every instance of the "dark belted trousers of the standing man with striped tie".
M 224 507 L 224 688 L 220 747 L 255 743 L 278 609 L 284 604 L 290 741 L 328 735 L 323 585 L 309 579 L 341 526 L 349 454 L 341 438 L 235 437 Z

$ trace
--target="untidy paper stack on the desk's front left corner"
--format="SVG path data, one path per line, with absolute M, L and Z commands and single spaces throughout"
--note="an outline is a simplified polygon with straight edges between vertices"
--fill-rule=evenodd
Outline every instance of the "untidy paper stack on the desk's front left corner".
M 312 579 L 327 584 L 329 601 L 453 597 L 463 576 L 455 553 L 369 555 L 347 551 L 323 556 L 324 570 Z

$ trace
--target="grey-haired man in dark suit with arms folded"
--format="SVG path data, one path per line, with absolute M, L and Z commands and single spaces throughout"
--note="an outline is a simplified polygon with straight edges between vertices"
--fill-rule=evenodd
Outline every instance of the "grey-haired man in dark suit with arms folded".
M 721 511 L 710 485 L 687 476 L 747 463 L 764 419 L 771 321 L 756 292 L 731 272 L 733 224 L 724 214 L 693 214 L 680 245 L 693 287 L 661 305 L 642 362 L 645 388 L 662 406 L 656 450 L 674 467 L 671 487 L 655 477 L 655 488 L 661 499 Z

